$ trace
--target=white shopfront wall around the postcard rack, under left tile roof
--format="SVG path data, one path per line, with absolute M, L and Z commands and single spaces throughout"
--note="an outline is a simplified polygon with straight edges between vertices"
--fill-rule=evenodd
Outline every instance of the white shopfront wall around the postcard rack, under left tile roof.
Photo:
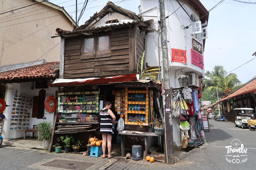
M 12 105 L 12 101 L 13 101 L 13 97 L 14 94 L 17 95 L 26 95 L 26 96 L 38 96 L 39 91 L 41 90 L 41 88 L 34 88 L 33 86 L 33 90 L 31 89 L 32 87 L 32 82 L 28 82 L 28 83 L 20 83 L 20 84 L 7 84 L 7 86 L 9 86 L 7 88 L 6 91 L 6 98 L 5 101 L 7 101 L 7 105 Z M 44 88 L 46 91 L 46 95 L 55 95 L 55 91 L 58 90 L 57 87 L 48 87 L 48 88 Z M 5 116 L 6 116 L 6 124 L 5 124 L 5 130 L 4 130 L 4 137 L 5 139 L 15 139 L 15 138 L 19 138 L 19 137 L 23 137 L 23 130 L 9 130 L 10 127 L 10 115 L 12 112 L 12 107 L 7 107 L 7 109 L 5 109 Z M 33 128 L 33 125 L 37 125 L 38 123 L 42 122 L 43 119 L 37 119 L 37 118 L 32 118 L 32 109 L 30 109 L 30 121 L 29 121 L 29 128 Z M 45 113 L 45 117 L 46 119 L 44 121 L 50 121 L 53 122 L 53 113 Z M 26 135 L 28 136 L 32 136 L 32 133 L 26 133 Z M 37 136 L 38 134 L 35 133 L 35 135 Z

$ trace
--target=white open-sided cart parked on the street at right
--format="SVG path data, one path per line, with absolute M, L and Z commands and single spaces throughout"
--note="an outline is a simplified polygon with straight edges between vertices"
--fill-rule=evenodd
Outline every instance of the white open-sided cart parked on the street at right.
M 241 126 L 243 129 L 247 127 L 247 120 L 254 119 L 252 108 L 236 108 L 235 127 Z

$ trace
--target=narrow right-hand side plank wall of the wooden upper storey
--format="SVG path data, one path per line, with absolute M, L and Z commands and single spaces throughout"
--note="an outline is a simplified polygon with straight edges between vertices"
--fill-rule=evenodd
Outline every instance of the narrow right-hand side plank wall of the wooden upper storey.
M 144 48 L 144 44 L 145 44 L 145 31 L 141 31 L 138 27 L 136 28 L 136 61 L 135 61 L 135 68 L 136 68 L 136 71 L 137 71 L 137 64 L 139 63 L 139 73 L 141 73 L 141 65 L 140 65 L 140 61 L 141 61 L 141 58 L 142 58 L 142 54 L 143 54 L 143 51 L 145 50 Z M 141 56 L 141 57 L 140 57 Z M 139 58 L 140 58 L 140 61 L 139 61 Z M 145 61 L 145 60 L 144 60 Z M 144 63 L 145 65 L 145 63 Z M 143 66 L 144 68 L 144 66 Z

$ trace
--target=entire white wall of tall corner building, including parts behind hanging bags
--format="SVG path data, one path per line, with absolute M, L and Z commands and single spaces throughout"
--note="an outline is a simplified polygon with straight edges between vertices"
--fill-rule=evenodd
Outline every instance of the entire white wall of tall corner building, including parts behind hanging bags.
M 149 19 L 153 19 L 154 22 L 150 25 L 148 29 L 159 29 L 158 21 L 160 21 L 159 17 L 159 2 L 157 0 L 140 0 L 141 2 L 141 15 L 144 18 L 144 21 Z M 185 3 L 185 0 L 181 0 L 181 4 Z M 175 0 L 165 0 L 165 15 L 168 16 L 172 14 L 176 9 L 180 7 L 178 2 Z M 154 8 L 156 7 L 156 8 Z M 148 10 L 147 9 L 150 9 Z M 188 10 L 190 14 L 193 14 L 196 19 L 199 19 L 199 13 L 194 9 L 192 5 L 188 2 L 185 3 L 185 8 Z M 146 12 L 143 12 L 146 11 Z M 178 16 L 177 16 L 178 15 Z M 149 17 L 150 16 L 150 17 Z M 158 17 L 151 17 L 151 16 L 158 16 Z M 167 28 L 167 46 L 168 46 L 168 58 L 169 58 L 169 67 L 170 67 L 170 86 L 175 88 L 179 87 L 177 77 L 181 74 L 181 70 L 183 74 L 187 74 L 190 72 L 195 72 L 197 75 L 201 75 L 204 77 L 204 69 L 199 68 L 196 65 L 191 63 L 191 49 L 192 49 L 192 35 L 190 35 L 191 28 L 183 29 L 186 26 L 190 25 L 190 18 L 184 12 L 184 10 L 180 7 L 176 14 L 173 13 L 171 16 L 166 19 L 166 28 Z M 153 36 L 154 35 L 154 36 Z M 158 31 L 154 33 L 147 33 L 147 48 L 146 48 L 146 58 L 145 62 L 148 63 L 149 66 L 158 66 L 159 65 L 159 55 L 161 58 L 161 47 L 159 48 L 159 35 Z M 194 38 L 195 39 L 195 38 Z M 203 44 L 203 41 L 199 41 Z M 171 62 L 171 49 L 183 49 L 186 50 L 187 55 L 187 63 L 176 63 Z M 204 56 L 204 55 L 203 55 Z M 160 59 L 161 62 L 161 59 Z M 174 98 L 173 101 L 176 101 L 177 98 Z M 181 146 L 181 134 L 179 128 L 179 121 L 178 119 L 173 119 L 173 140 L 177 144 L 177 146 Z

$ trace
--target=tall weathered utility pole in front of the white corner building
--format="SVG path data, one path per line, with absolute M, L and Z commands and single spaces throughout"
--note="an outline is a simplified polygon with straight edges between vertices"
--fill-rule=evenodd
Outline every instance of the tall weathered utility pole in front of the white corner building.
M 166 38 L 164 0 L 160 0 L 160 27 L 161 27 L 161 47 L 162 47 L 162 69 L 164 76 L 164 154 L 165 162 L 173 163 L 173 123 L 171 117 L 171 91 L 169 82 L 169 60 Z

